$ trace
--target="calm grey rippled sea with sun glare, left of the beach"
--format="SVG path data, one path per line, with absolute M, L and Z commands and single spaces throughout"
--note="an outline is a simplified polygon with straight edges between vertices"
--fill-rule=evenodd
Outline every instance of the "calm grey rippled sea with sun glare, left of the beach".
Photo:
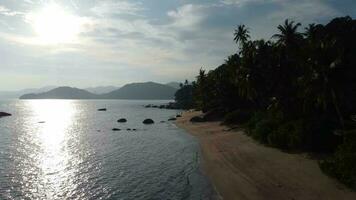
M 197 141 L 160 123 L 178 111 L 149 103 L 0 101 L 0 199 L 211 199 Z

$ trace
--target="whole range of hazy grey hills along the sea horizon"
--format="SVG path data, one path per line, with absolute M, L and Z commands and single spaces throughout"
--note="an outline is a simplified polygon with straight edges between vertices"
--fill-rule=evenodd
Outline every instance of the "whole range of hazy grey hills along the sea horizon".
M 29 93 L 20 99 L 174 99 L 177 88 L 155 82 L 131 83 L 108 93 L 94 94 L 74 87 L 57 87 L 47 92 Z

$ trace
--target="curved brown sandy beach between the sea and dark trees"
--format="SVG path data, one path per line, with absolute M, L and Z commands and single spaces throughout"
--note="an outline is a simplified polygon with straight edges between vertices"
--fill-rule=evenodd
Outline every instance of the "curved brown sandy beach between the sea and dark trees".
M 220 122 L 189 122 L 199 114 L 184 112 L 176 125 L 198 138 L 203 170 L 224 200 L 356 199 L 356 192 L 323 174 L 306 154 L 263 146 Z

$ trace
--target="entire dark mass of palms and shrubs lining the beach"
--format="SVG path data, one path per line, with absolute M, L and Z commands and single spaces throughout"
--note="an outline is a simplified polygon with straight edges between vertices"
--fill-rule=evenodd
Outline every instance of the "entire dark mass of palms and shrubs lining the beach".
M 249 29 L 238 26 L 238 52 L 214 70 L 201 69 L 177 100 L 189 88 L 188 107 L 218 109 L 262 143 L 329 153 L 324 171 L 355 186 L 356 138 L 346 133 L 356 130 L 356 20 L 300 29 L 286 20 L 266 41 L 250 40 Z

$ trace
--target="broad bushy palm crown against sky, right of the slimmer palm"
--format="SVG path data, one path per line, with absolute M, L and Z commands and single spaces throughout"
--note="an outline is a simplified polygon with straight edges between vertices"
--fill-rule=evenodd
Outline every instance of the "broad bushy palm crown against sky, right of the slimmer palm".
M 301 23 L 295 24 L 294 21 L 286 19 L 283 25 L 277 27 L 280 33 L 272 37 L 277 38 L 279 45 L 286 47 L 295 46 L 302 39 L 302 34 L 298 32 L 298 27 L 301 25 Z

